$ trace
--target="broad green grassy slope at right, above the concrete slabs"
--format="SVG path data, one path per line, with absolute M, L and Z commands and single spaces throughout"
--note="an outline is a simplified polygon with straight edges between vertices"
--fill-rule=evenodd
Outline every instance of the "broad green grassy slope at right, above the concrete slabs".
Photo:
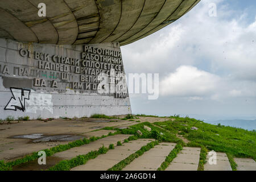
M 229 126 L 210 125 L 192 118 L 175 118 L 175 121 L 156 122 L 155 125 L 170 131 L 172 134 L 183 135 L 189 141 L 187 146 L 205 146 L 208 150 L 225 152 L 240 158 L 256 159 L 256 133 Z M 191 130 L 191 127 L 198 130 Z

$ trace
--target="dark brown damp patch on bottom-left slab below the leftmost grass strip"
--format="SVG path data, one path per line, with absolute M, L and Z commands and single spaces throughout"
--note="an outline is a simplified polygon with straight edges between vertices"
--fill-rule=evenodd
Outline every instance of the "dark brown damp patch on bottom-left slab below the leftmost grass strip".
M 59 163 L 61 158 L 49 156 L 46 158 L 46 165 L 39 165 L 38 159 L 13 167 L 13 171 L 41 171 L 46 170 Z

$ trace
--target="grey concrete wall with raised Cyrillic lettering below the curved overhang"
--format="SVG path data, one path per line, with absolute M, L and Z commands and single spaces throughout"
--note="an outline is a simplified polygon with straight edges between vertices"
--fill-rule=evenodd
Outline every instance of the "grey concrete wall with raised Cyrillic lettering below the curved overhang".
M 130 114 L 128 94 L 121 94 L 121 97 L 116 93 L 100 94 L 97 86 L 101 80 L 93 80 L 101 72 L 109 74 L 110 68 L 117 73 L 124 72 L 119 43 L 86 46 L 19 43 L 0 39 L 0 118 Z M 90 52 L 92 50 L 94 53 Z M 98 55 L 97 61 L 92 61 L 96 56 L 92 58 L 91 55 Z M 59 60 L 61 56 L 63 58 Z M 98 57 L 101 59 L 98 60 Z M 87 64 L 90 62 L 93 64 Z M 100 68 L 96 68 L 97 62 L 101 64 Z M 90 72 L 85 72 L 85 68 Z M 81 77 L 89 80 L 81 80 Z

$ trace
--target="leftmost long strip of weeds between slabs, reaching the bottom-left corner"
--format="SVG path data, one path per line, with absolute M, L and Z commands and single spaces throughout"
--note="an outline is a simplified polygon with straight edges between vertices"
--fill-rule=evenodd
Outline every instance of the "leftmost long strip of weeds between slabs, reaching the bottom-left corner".
M 112 136 L 112 135 L 116 135 L 116 134 L 119 134 L 119 132 L 117 131 L 115 133 L 109 133 L 108 136 Z M 76 140 L 75 142 L 70 142 L 68 144 L 60 144 L 59 146 L 52 147 L 50 149 L 45 149 L 43 151 L 46 152 L 47 156 L 51 156 L 53 154 L 56 154 L 57 152 L 69 150 L 70 148 L 73 148 L 73 147 L 79 147 L 84 144 L 88 144 L 90 142 L 94 142 L 95 140 L 105 138 L 108 136 L 102 135 L 102 137 L 91 137 L 89 139 L 84 138 L 82 140 Z M 5 163 L 3 160 L 0 160 L 0 171 L 11 171 L 14 166 L 17 166 L 17 165 L 23 164 L 23 163 L 27 163 L 27 162 L 31 162 L 32 160 L 36 160 L 39 157 L 40 156 L 38 155 L 38 152 L 33 152 L 31 155 L 26 155 L 26 156 L 24 156 L 24 158 L 16 159 L 13 162 Z

